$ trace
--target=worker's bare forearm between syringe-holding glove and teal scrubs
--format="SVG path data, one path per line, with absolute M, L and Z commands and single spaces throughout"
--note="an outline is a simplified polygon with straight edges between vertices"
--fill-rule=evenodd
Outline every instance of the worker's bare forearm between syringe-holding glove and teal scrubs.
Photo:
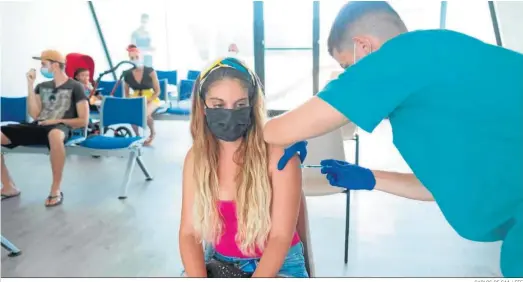
M 376 178 L 375 190 L 419 201 L 434 201 L 429 190 L 412 173 L 372 171 Z

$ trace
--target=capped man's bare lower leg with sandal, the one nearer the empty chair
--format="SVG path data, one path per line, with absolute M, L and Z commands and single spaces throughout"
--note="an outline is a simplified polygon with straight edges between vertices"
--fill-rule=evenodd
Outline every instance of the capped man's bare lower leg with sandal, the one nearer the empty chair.
M 46 206 L 53 206 L 62 201 L 60 184 L 62 183 L 62 173 L 65 164 L 65 144 L 66 133 L 59 128 L 53 128 L 49 131 L 49 151 L 51 158 L 51 170 L 53 172 L 53 183 L 51 192 L 45 202 Z

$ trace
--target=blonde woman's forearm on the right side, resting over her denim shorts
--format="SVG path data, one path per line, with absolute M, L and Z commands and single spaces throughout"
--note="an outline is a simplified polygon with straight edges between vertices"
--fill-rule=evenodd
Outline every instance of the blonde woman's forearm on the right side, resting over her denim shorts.
M 289 252 L 291 246 L 292 236 L 285 238 L 269 238 L 267 247 L 263 251 L 263 256 L 260 263 L 256 267 L 252 277 L 253 278 L 274 278 L 280 272 L 280 269 L 285 261 L 285 257 Z

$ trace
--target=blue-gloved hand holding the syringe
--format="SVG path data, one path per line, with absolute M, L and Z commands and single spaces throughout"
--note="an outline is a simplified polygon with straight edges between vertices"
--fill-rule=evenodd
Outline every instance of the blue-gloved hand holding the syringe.
M 370 169 L 337 160 L 323 160 L 320 164 L 321 173 L 332 186 L 349 190 L 372 190 L 376 186 L 376 178 Z

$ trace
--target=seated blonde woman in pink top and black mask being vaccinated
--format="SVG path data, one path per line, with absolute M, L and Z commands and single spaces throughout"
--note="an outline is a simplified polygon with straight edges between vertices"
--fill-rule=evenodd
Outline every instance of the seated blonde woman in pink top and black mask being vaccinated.
M 200 74 L 193 94 L 179 236 L 184 275 L 206 277 L 213 259 L 253 277 L 308 277 L 296 232 L 300 162 L 277 169 L 283 148 L 264 142 L 258 78 L 226 58 Z

